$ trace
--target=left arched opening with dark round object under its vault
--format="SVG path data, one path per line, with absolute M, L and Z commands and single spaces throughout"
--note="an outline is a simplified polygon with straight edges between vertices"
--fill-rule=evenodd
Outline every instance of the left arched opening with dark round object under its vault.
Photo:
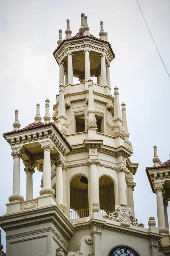
M 79 175 L 70 183 L 70 218 L 84 218 L 89 216 L 88 207 L 88 179 Z

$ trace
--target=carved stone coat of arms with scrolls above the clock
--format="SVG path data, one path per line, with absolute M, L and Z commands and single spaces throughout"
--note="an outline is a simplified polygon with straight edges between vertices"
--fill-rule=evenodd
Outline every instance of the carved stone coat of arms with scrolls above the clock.
M 103 218 L 112 221 L 119 221 L 124 224 L 131 224 L 137 227 L 144 227 L 144 224 L 138 223 L 138 220 L 131 214 L 131 209 L 128 208 L 125 204 L 117 207 L 115 212 L 109 213 L 109 215 L 104 215 Z

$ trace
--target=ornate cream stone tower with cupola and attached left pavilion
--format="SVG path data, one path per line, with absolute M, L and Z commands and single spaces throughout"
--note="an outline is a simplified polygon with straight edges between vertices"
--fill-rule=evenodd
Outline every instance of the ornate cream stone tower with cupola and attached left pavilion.
M 35 122 L 3 136 L 14 158 L 13 195 L 0 226 L 7 256 L 159 256 L 163 234 L 135 218 L 133 190 L 138 163 L 132 163 L 126 108 L 119 89 L 111 95 L 110 64 L 115 58 L 100 22 L 99 38 L 88 17 L 72 36 L 59 30 L 54 58 L 59 94 L 54 113 L 45 100 L 44 122 L 37 104 Z M 74 77 L 79 79 L 74 83 Z M 78 80 L 77 79 L 77 80 Z M 20 159 L 25 164 L 26 200 L 20 195 Z M 35 168 L 42 172 L 40 196 L 33 198 Z M 23 253 L 24 252 L 24 253 Z

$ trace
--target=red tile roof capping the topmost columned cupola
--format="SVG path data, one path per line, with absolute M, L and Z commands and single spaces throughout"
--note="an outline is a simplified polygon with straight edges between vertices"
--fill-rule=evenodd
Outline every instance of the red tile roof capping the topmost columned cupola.
M 105 43 L 105 44 L 108 44 L 108 46 L 109 46 L 109 48 L 110 48 L 110 50 L 111 50 L 111 53 L 112 53 L 112 55 L 113 55 L 113 59 L 115 58 L 115 54 L 114 54 L 114 52 L 113 52 L 113 49 L 112 49 L 112 47 L 111 47 L 111 44 L 108 42 L 108 41 L 104 41 L 104 40 L 101 40 L 101 39 L 99 39 L 99 38 L 96 38 L 94 35 L 83 35 L 83 32 L 78 32 L 76 35 L 74 35 L 73 37 L 71 37 L 71 38 L 68 38 L 68 39 L 64 39 L 63 41 L 62 41 L 62 43 L 61 44 L 59 44 L 59 46 L 57 47 L 57 49 L 55 49 L 54 50 L 54 52 L 53 52 L 53 55 L 55 55 L 55 53 L 58 51 L 58 49 L 64 44 L 64 42 L 66 42 L 66 41 L 71 41 L 71 40 L 75 40 L 75 39 L 79 39 L 79 38 L 92 38 L 92 39 L 94 39 L 94 40 L 96 40 L 96 41 L 100 41 L 100 42 L 103 42 L 103 43 Z M 55 57 L 55 56 L 54 56 Z

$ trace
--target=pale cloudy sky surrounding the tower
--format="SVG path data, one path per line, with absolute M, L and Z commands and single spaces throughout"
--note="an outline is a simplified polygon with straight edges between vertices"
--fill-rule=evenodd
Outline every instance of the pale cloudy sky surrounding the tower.
M 78 3 L 78 4 L 77 4 Z M 139 0 L 161 57 L 170 73 L 170 1 Z M 0 1 L 0 215 L 6 213 L 12 195 L 13 159 L 11 148 L 2 137 L 13 130 L 14 111 L 19 110 L 21 128 L 34 122 L 36 104 L 45 115 L 45 99 L 53 113 L 59 90 L 59 67 L 53 51 L 58 30 L 70 19 L 72 35 L 80 27 L 80 15 L 88 16 L 90 33 L 99 37 L 100 20 L 116 55 L 111 63 L 112 94 L 119 87 L 120 102 L 126 103 L 131 160 L 139 163 L 134 177 L 135 215 L 148 227 L 157 221 L 156 195 L 145 169 L 153 166 L 153 145 L 162 163 L 170 159 L 170 78 L 159 58 L 136 0 L 6 0 Z M 21 163 L 21 195 L 26 195 L 26 174 Z M 34 173 L 34 198 L 39 196 L 42 173 Z M 170 218 L 170 206 L 168 208 Z M 4 251 L 5 233 L 1 236 Z

